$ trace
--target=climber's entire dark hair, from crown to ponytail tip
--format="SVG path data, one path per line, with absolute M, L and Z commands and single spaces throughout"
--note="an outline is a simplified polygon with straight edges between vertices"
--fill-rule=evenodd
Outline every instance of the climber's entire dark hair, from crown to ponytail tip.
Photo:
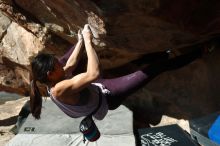
M 47 84 L 47 72 L 54 70 L 55 57 L 52 54 L 38 54 L 31 62 L 31 94 L 30 107 L 31 113 L 36 119 L 40 119 L 42 108 L 42 96 L 37 86 L 37 81 Z

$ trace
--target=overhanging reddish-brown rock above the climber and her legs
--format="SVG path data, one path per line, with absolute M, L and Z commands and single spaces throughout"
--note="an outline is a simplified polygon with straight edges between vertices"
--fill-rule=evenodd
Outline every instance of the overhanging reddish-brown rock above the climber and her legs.
M 133 68 L 127 64 L 142 54 L 203 42 L 220 29 L 218 0 L 3 0 L 0 8 L 5 20 L 0 23 L 0 90 L 22 95 L 29 92 L 33 56 L 40 51 L 61 56 L 85 23 L 92 26 L 103 70 L 113 70 L 106 76 L 122 74 L 115 69 L 122 65 Z

